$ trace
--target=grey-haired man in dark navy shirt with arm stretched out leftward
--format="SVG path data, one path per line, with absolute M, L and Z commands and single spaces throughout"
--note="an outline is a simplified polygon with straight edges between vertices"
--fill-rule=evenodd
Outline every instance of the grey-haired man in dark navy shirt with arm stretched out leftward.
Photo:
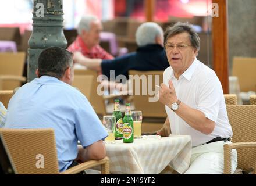
M 115 70 L 115 77 L 123 74 L 128 78 L 129 70 L 165 70 L 169 67 L 163 48 L 163 30 L 157 23 L 141 24 L 136 31 L 136 43 L 136 52 L 112 60 L 90 59 L 81 52 L 74 52 L 74 62 L 88 69 L 102 71 L 108 78 L 111 70 Z

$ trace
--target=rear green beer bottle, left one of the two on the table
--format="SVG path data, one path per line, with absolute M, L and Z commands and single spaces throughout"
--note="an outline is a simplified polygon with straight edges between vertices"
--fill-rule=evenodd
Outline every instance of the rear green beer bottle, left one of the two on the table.
M 119 100 L 115 99 L 115 108 L 113 116 L 116 116 L 116 125 L 115 125 L 115 138 L 122 139 L 123 137 L 123 115 L 120 111 Z

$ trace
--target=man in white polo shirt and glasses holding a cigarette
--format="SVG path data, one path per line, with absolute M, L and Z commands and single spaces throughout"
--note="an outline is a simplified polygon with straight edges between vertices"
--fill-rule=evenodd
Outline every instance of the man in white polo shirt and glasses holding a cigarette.
M 214 70 L 197 60 L 200 38 L 189 24 L 168 27 L 164 44 L 170 67 L 163 73 L 159 101 L 165 105 L 165 126 L 171 133 L 191 135 L 193 149 L 185 174 L 223 174 L 223 145 L 230 143 L 233 133 L 222 85 Z M 233 172 L 236 167 L 234 149 Z

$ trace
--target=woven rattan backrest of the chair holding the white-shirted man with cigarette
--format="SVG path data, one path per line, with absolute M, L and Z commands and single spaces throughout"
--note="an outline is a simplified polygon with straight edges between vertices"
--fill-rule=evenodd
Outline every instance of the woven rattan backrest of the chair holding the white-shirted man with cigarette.
M 232 142 L 256 142 L 256 105 L 227 105 L 227 115 L 232 126 Z M 251 168 L 256 159 L 253 148 L 237 149 L 237 168 Z

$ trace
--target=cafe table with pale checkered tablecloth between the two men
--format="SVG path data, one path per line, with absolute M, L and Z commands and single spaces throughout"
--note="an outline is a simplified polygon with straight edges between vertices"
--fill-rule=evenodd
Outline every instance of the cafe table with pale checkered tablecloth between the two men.
M 182 174 L 190 163 L 189 135 L 144 135 L 133 143 L 116 140 L 105 146 L 111 174 L 159 174 L 167 166 Z

